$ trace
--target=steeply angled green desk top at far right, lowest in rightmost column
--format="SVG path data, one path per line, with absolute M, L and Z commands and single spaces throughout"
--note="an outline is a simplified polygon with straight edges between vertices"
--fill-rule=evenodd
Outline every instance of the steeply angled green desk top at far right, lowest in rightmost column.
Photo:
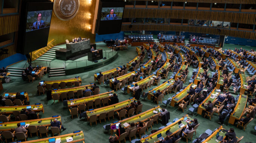
M 239 99 L 236 103 L 236 107 L 234 108 L 233 113 L 230 116 L 233 116 L 236 119 L 241 119 L 242 113 L 244 111 L 244 108 L 246 106 L 247 103 L 247 97 L 246 95 L 239 96 Z M 233 115 L 234 114 L 234 115 Z

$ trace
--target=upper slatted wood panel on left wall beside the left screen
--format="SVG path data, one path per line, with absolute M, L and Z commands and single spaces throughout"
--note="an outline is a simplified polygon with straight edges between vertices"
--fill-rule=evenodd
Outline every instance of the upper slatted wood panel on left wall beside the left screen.
M 19 15 L 0 16 L 0 36 L 19 29 Z

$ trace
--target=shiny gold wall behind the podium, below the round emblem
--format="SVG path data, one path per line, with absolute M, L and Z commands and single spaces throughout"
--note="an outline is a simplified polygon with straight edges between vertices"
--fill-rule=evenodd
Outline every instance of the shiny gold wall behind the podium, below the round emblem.
M 54 2 L 54 0 L 51 0 Z M 52 12 L 51 26 L 49 31 L 48 43 L 52 40 L 56 44 L 65 43 L 68 39 L 72 41 L 75 37 L 90 38 L 91 43 L 95 42 L 95 34 L 92 34 L 94 12 L 96 0 L 80 0 L 79 11 L 76 16 L 69 21 L 63 21 L 56 17 Z

